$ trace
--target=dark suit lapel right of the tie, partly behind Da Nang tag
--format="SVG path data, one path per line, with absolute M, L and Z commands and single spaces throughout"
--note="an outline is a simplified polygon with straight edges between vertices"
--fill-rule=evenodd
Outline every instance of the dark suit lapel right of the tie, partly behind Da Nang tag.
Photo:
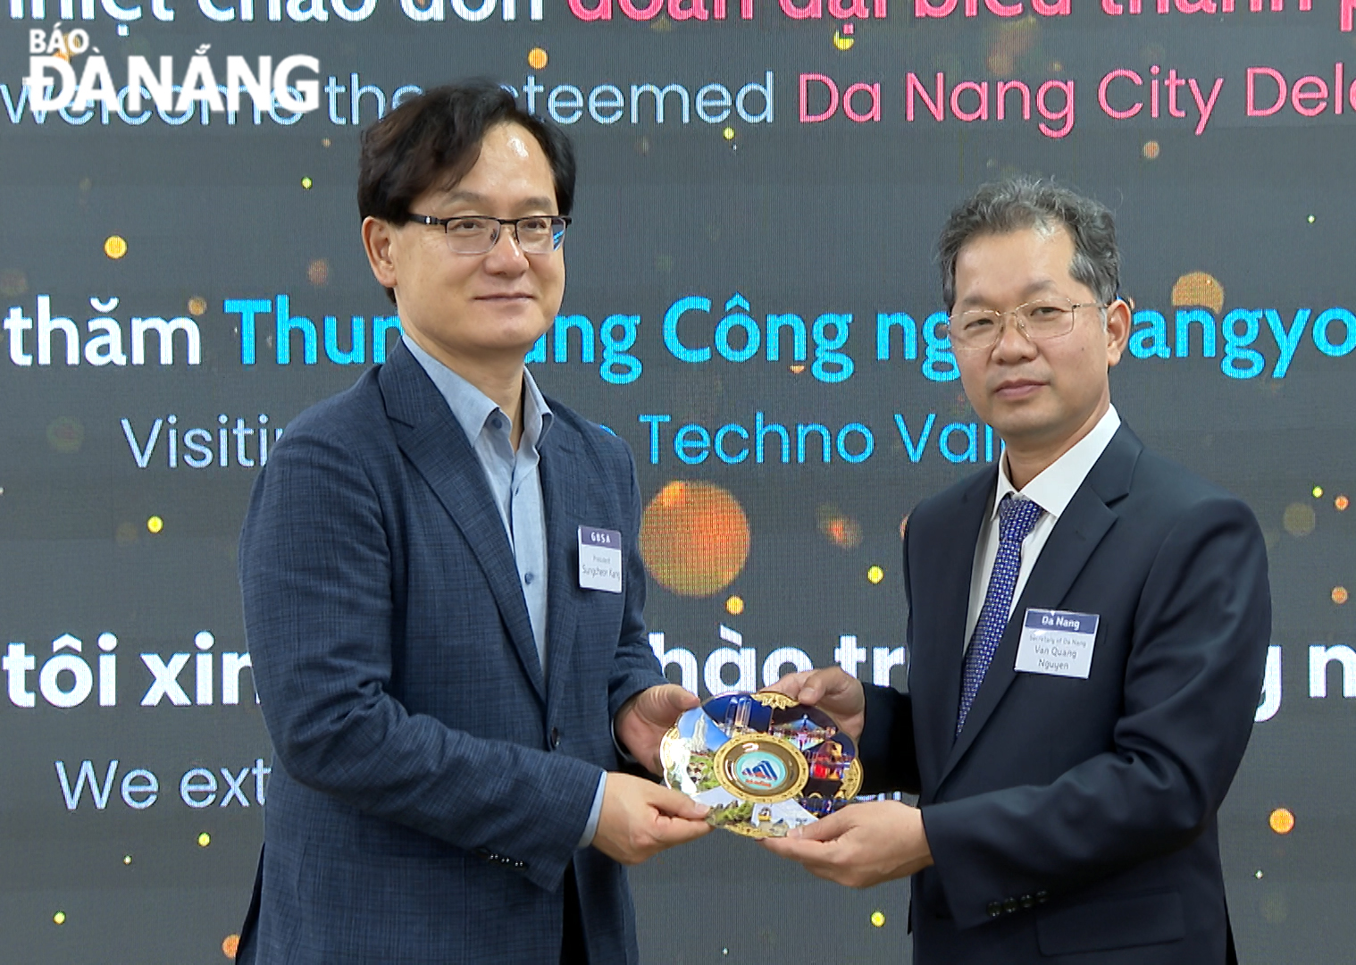
M 1013 608 L 1013 615 L 1008 620 L 1003 637 L 998 649 L 994 650 L 994 657 L 984 672 L 984 680 L 975 695 L 975 702 L 965 715 L 965 727 L 960 732 L 960 737 L 956 738 L 946 757 L 938 784 L 964 757 L 976 736 L 984 729 L 994 708 L 998 707 L 998 702 L 1016 680 L 1017 670 L 1013 668 L 1017 662 L 1017 645 L 1021 639 L 1021 624 L 1026 609 L 1029 607 L 1058 609 L 1063 604 L 1069 589 L 1082 573 L 1089 556 L 1093 555 L 1097 544 L 1116 521 L 1116 512 L 1108 504 L 1116 502 L 1130 491 L 1135 460 L 1142 449 L 1140 441 L 1128 426 L 1123 425 L 1089 471 L 1088 478 L 1083 479 L 1083 485 L 1074 493 L 1069 506 L 1064 508 L 1064 513 L 1051 531 L 1050 539 L 1045 540 L 1040 558 L 1032 567 L 1031 577 L 1028 577 L 1021 597 Z M 952 695 L 959 694 L 957 677 Z M 955 732 L 955 713 L 951 715 L 951 723 L 952 732 Z

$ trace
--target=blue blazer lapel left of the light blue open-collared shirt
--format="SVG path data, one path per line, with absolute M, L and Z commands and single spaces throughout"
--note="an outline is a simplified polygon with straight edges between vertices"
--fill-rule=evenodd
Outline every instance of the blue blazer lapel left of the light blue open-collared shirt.
M 523 673 L 545 703 L 541 660 L 532 635 L 527 604 L 518 585 L 518 565 L 480 459 L 446 399 L 403 343 L 382 365 L 378 381 L 400 451 L 465 536 L 490 582 Z

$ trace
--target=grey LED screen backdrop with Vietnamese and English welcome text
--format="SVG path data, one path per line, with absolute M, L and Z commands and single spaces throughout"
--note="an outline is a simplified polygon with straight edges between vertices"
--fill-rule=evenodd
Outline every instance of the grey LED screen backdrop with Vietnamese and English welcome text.
M 578 144 L 565 303 L 530 362 L 635 451 L 651 641 L 704 696 L 833 661 L 903 685 L 903 518 L 998 455 L 937 331 L 933 239 L 1010 172 L 1115 209 L 1113 399 L 1271 551 L 1220 814 L 1241 953 L 1348 961 L 1353 5 L 9 0 L 0 960 L 232 950 L 271 765 L 247 494 L 289 419 L 397 338 L 358 132 L 480 75 Z M 633 882 L 647 961 L 907 961 L 902 884 L 841 890 L 728 835 Z

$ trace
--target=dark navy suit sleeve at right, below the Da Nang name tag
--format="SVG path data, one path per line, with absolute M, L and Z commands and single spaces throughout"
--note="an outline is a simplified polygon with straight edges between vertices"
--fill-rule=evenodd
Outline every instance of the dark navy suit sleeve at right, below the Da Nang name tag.
M 1248 745 L 1269 637 L 1252 512 L 1224 497 L 1191 506 L 1140 593 L 1113 748 L 1048 786 L 922 809 L 957 926 L 989 922 L 995 898 L 1075 889 L 1200 835 Z

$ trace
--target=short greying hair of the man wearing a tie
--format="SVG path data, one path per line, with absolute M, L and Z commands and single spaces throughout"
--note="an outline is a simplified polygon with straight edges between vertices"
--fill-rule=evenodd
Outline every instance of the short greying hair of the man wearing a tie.
M 980 186 L 951 213 L 937 239 L 941 295 L 948 312 L 956 305 L 956 258 L 960 250 L 982 235 L 1006 235 L 1026 228 L 1040 233 L 1067 229 L 1074 239 L 1069 274 L 1088 285 L 1102 304 L 1116 300 L 1120 252 L 1111 212 L 1066 187 L 1031 178 L 1010 178 Z

